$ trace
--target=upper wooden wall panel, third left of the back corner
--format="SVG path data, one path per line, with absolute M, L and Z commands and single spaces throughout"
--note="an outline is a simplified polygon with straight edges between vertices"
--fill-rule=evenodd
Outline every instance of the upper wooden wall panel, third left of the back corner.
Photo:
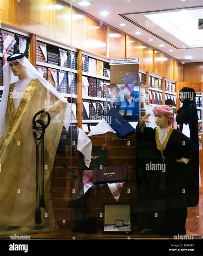
M 163 52 L 154 51 L 154 73 L 166 76 L 166 56 Z

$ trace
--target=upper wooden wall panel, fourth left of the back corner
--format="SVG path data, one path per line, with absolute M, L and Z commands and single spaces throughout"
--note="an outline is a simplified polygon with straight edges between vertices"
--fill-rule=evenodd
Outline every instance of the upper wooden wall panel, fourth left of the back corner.
M 154 72 L 154 49 L 143 44 L 143 69 Z

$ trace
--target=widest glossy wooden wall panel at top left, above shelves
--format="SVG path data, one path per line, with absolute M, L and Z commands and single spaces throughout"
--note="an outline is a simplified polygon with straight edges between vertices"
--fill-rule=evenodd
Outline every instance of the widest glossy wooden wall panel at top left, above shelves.
M 54 39 L 54 10 L 50 7 L 54 6 L 54 0 L 21 0 L 13 3 L 16 27 Z

